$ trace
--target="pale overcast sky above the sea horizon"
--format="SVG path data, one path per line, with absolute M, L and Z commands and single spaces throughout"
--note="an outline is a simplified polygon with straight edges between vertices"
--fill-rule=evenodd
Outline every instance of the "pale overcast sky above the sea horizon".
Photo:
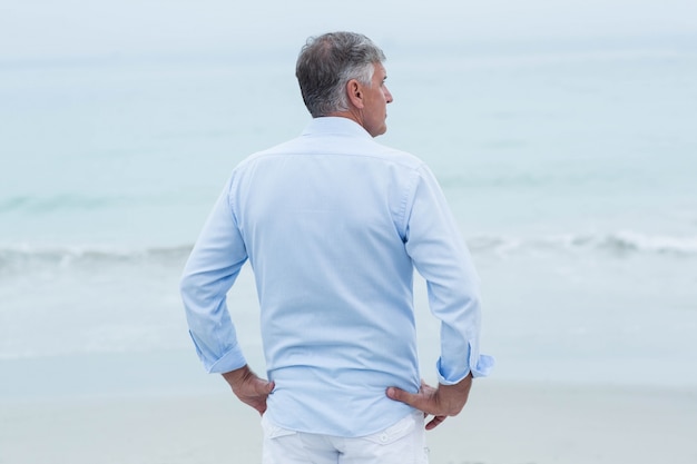
M 355 30 L 377 42 L 697 37 L 695 0 L 17 0 L 0 4 L 0 60 L 297 49 Z M 237 47 L 235 47 L 237 48 Z

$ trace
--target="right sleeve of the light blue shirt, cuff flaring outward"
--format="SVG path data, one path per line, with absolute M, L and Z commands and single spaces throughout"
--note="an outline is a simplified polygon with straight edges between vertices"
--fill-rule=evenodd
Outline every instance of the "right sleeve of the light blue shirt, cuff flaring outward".
M 430 309 L 441 320 L 439 382 L 457 384 L 470 372 L 485 376 L 493 358 L 479 352 L 479 276 L 445 197 L 425 166 L 418 171 L 409 213 L 406 251 L 426 280 Z

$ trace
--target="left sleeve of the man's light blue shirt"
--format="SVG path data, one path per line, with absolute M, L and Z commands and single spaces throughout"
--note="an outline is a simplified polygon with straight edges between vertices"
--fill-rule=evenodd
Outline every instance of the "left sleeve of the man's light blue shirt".
M 230 184 L 232 180 L 208 216 L 180 282 L 189 334 L 209 373 L 226 373 L 246 364 L 226 297 L 247 260 L 229 206 Z

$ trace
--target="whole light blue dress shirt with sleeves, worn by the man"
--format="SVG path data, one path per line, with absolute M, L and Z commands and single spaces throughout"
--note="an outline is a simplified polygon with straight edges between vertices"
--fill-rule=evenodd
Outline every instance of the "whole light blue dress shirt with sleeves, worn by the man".
M 350 119 L 313 119 L 234 169 L 181 280 L 208 372 L 246 364 L 226 294 L 247 259 L 278 426 L 355 437 L 411 413 L 385 388 L 420 386 L 414 268 L 442 323 L 439 381 L 493 364 L 479 353 L 477 273 L 435 178 Z

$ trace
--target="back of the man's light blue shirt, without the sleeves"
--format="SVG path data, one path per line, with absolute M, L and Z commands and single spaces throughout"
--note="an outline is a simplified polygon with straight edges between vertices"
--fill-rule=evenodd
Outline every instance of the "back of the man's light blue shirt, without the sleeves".
M 345 118 L 318 118 L 236 169 L 229 201 L 256 277 L 278 425 L 357 436 L 409 414 L 384 391 L 420 382 L 404 247 L 420 167 Z

